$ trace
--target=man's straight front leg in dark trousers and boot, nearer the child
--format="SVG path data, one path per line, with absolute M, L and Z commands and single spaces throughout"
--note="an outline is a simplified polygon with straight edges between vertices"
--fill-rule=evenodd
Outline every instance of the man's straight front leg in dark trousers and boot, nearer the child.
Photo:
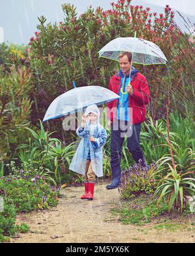
M 120 160 L 122 156 L 123 141 L 124 138 L 121 137 L 120 128 L 118 128 L 118 130 L 113 130 L 113 124 L 111 124 L 110 165 L 112 170 L 112 184 L 107 185 L 107 189 L 116 188 L 120 183 Z

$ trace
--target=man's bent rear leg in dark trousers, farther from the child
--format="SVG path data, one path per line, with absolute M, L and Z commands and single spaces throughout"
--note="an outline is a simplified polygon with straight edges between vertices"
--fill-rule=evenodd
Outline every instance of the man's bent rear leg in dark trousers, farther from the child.
M 127 137 L 127 147 L 129 152 L 131 152 L 133 159 L 138 164 L 138 160 L 142 160 L 142 166 L 147 166 L 146 161 L 144 159 L 144 154 L 142 149 L 140 148 L 140 130 L 141 124 L 133 124 L 131 125 L 133 128 L 132 135 Z

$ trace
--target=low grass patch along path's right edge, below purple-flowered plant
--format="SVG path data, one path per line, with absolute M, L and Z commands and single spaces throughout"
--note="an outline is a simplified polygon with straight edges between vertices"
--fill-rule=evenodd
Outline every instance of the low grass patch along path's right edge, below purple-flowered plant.
M 168 214 L 167 208 L 168 206 L 164 202 L 157 208 L 156 201 L 153 200 L 152 196 L 140 195 L 128 201 L 122 201 L 122 206 L 112 208 L 111 213 L 114 216 L 119 216 L 118 220 L 124 225 L 143 226 L 150 224 L 151 229 L 159 231 L 162 229 L 168 231 L 187 229 L 190 216 L 182 215 L 179 212 Z M 190 227 L 190 230 L 192 228 Z

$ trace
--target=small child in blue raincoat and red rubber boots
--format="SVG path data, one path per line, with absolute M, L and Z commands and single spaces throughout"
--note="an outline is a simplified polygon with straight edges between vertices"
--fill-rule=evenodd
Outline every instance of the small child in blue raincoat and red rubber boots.
M 99 124 L 99 109 L 95 104 L 86 108 L 76 132 L 82 139 L 73 156 L 70 169 L 85 175 L 85 193 L 81 199 L 93 200 L 96 175 L 103 176 L 102 147 L 107 140 L 105 128 Z

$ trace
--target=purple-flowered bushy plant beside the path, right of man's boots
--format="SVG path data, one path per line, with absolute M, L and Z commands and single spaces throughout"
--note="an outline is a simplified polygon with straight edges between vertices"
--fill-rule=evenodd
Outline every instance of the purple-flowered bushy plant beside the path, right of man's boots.
M 119 187 L 120 195 L 123 199 L 135 197 L 142 193 L 153 193 L 157 184 L 152 178 L 156 169 L 154 163 L 148 167 L 141 166 L 141 160 L 138 164 L 130 166 L 122 172 L 121 186 Z

